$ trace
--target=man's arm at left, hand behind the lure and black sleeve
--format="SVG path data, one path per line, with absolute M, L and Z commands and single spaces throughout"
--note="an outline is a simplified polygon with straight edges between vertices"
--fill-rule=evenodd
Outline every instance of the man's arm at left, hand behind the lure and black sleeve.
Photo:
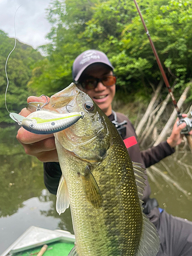
M 44 101 L 45 97 L 30 96 L 27 101 Z M 31 112 L 23 109 L 19 114 L 27 117 Z M 52 194 L 56 194 L 61 170 L 58 163 L 58 155 L 53 134 L 33 134 L 21 127 L 17 132 L 17 140 L 23 145 L 26 154 L 35 156 L 39 161 L 44 162 L 45 185 Z

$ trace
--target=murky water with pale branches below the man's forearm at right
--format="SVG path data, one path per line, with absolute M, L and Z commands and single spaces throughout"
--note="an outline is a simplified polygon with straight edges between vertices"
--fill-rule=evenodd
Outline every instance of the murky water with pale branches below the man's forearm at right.
M 160 207 L 169 214 L 192 221 L 192 165 L 190 151 L 177 151 L 147 169 Z

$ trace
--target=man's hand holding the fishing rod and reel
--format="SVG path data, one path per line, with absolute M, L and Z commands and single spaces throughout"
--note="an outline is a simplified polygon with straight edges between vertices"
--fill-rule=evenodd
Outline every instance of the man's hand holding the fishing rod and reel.
M 182 117 L 187 117 L 186 114 L 182 114 Z M 177 118 L 172 134 L 170 137 L 167 139 L 167 143 L 169 144 L 170 147 L 175 147 L 179 144 L 181 144 L 181 141 L 183 139 L 183 134 L 181 134 L 181 130 L 186 126 L 186 123 L 182 123 L 179 126 L 177 126 L 177 122 L 179 121 L 179 118 Z M 189 135 L 192 134 L 192 131 L 189 132 Z

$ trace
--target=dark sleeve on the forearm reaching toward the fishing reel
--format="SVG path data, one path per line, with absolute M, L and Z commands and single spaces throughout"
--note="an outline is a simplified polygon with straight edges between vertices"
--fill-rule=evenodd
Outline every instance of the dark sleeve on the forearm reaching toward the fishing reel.
M 170 147 L 166 141 L 159 143 L 157 146 L 141 151 L 143 161 L 146 168 L 158 163 L 161 159 L 172 155 L 175 152 L 173 147 Z

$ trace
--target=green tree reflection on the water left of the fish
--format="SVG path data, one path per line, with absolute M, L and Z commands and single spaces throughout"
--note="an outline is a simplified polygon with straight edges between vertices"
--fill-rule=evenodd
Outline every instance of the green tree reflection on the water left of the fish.
M 42 163 L 25 154 L 16 132 L 15 126 L 0 128 L 0 217 L 14 214 L 24 201 L 40 197 L 45 188 Z

